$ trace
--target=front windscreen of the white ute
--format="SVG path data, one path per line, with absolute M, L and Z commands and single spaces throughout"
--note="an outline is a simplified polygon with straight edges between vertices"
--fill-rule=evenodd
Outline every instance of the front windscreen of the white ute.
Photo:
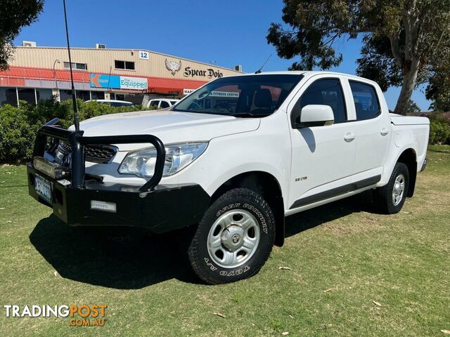
M 194 91 L 174 111 L 265 117 L 274 113 L 303 78 L 300 74 L 222 77 Z

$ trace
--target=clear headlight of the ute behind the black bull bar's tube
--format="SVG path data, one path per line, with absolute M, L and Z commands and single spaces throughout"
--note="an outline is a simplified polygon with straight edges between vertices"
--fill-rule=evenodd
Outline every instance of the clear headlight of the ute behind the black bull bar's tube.
M 166 146 L 166 159 L 163 177 L 172 176 L 191 164 L 205 152 L 208 143 L 179 143 Z M 138 177 L 151 177 L 155 171 L 156 150 L 148 147 L 127 154 L 119 166 L 119 173 L 134 174 Z

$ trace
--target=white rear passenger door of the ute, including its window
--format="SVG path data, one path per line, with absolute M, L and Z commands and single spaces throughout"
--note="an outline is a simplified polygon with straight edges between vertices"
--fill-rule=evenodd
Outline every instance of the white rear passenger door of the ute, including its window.
M 356 115 L 356 121 L 352 122 L 356 125 L 354 180 L 373 178 L 383 173 L 391 136 L 389 114 L 387 107 L 382 113 L 380 88 L 353 79 L 349 79 L 348 84 Z

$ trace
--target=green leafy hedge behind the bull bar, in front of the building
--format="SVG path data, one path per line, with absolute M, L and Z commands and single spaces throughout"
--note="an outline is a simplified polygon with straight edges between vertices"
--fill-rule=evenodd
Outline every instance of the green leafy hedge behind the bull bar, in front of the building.
M 142 110 L 141 106 L 111 107 L 97 102 L 84 103 L 77 100 L 79 120 L 103 114 Z M 151 108 L 150 108 L 151 109 Z M 23 162 L 32 157 L 34 140 L 39 128 L 53 118 L 60 119 L 60 125 L 68 128 L 73 124 L 72 100 L 57 102 L 41 100 L 37 105 L 20 101 L 19 107 L 0 107 L 0 162 Z

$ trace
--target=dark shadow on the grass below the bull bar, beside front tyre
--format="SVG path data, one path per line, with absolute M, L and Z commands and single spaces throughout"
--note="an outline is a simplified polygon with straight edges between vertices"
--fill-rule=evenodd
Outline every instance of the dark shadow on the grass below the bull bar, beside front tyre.
M 62 277 L 114 289 L 141 289 L 168 279 L 200 282 L 186 257 L 186 232 L 149 237 L 131 227 L 77 228 L 51 215 L 34 227 L 30 242 Z

